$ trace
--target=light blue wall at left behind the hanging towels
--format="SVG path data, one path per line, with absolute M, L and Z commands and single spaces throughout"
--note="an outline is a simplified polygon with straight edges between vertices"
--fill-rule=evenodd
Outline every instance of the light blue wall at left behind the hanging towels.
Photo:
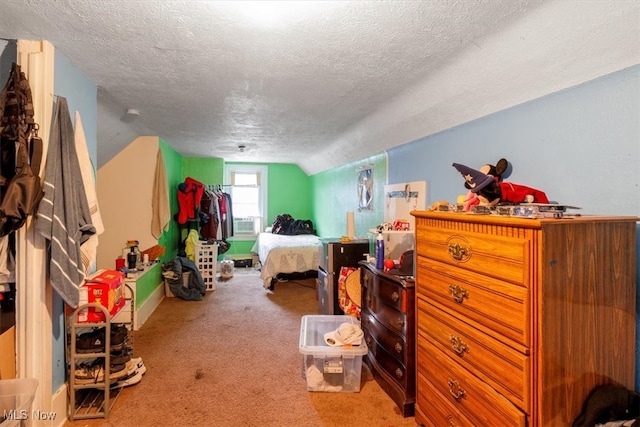
M 91 162 L 97 164 L 97 103 L 98 87 L 64 56 L 55 53 L 54 93 L 69 104 L 69 114 L 75 127 L 75 112 L 80 112 Z M 53 378 L 52 392 L 65 383 L 64 303 L 53 292 Z

